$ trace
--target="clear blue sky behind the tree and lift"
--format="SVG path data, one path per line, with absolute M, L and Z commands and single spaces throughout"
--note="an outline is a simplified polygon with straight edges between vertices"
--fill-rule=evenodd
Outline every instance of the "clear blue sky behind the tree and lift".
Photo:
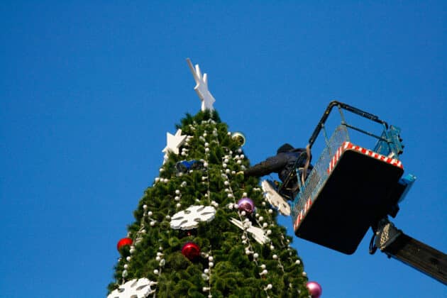
M 394 223 L 447 251 L 445 1 L 62 2 L 0 7 L 0 297 L 105 297 L 166 132 L 199 111 L 186 57 L 251 162 L 333 99 L 400 126 L 418 179 Z M 323 297 L 447 297 L 369 238 L 294 247 Z

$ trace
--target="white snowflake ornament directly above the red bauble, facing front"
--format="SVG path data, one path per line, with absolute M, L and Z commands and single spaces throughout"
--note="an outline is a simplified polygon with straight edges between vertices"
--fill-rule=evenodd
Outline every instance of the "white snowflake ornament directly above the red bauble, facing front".
M 212 221 L 216 215 L 213 206 L 189 206 L 187 209 L 174 214 L 171 218 L 171 228 L 178 230 L 191 230 L 197 228 L 201 221 Z

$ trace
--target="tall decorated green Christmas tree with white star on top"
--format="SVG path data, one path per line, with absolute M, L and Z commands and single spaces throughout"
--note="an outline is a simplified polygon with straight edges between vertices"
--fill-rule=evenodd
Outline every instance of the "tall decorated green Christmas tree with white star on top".
M 206 74 L 189 67 L 202 109 L 167 133 L 160 177 L 118 242 L 108 297 L 309 297 L 292 238 L 277 224 L 287 211 L 241 174 L 245 138 L 228 131 Z

